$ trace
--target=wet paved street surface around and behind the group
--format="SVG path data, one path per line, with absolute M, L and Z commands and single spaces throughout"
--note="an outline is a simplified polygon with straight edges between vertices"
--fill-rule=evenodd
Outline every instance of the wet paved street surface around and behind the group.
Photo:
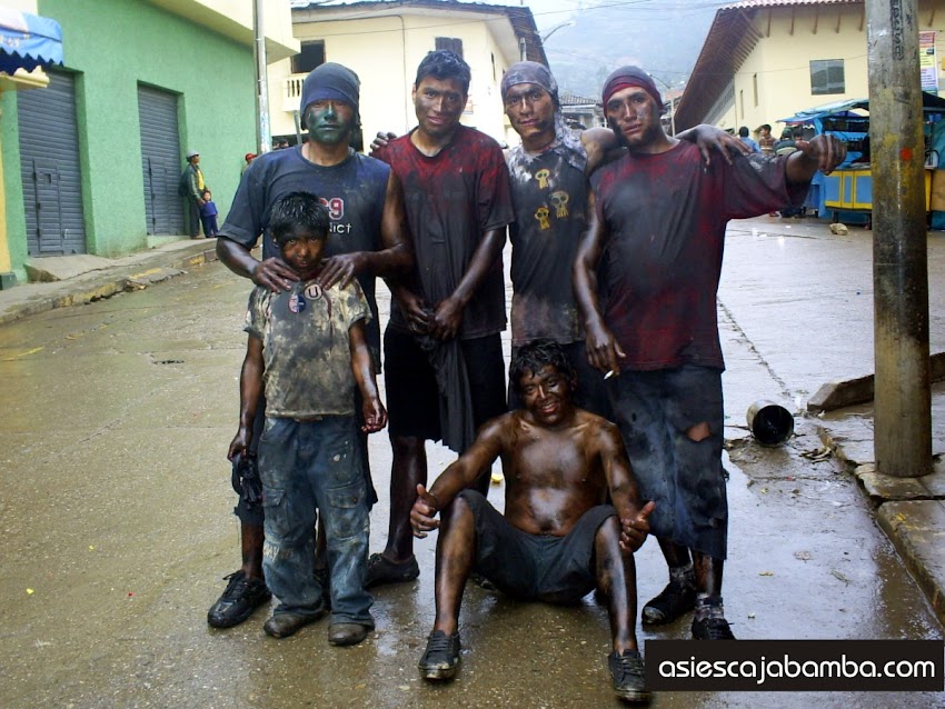
M 727 616 L 745 639 L 938 639 L 942 627 L 852 477 L 819 459 L 810 422 L 798 420 L 798 436 L 777 449 L 745 430 L 745 411 L 759 398 L 789 402 L 872 370 L 869 236 L 825 231 L 760 220 L 729 232 L 720 291 Z M 933 288 L 945 282 L 943 243 L 931 244 Z M 327 621 L 276 641 L 262 633 L 263 609 L 236 629 L 207 627 L 220 578 L 238 566 L 225 452 L 247 292 L 247 281 L 216 263 L 0 328 L 0 706 L 619 706 L 605 661 L 607 617 L 593 597 L 561 609 L 470 587 L 458 679 L 419 680 L 435 536 L 417 542 L 417 582 L 378 589 L 377 631 L 359 647 L 328 646 Z M 942 317 L 933 311 L 933 350 L 945 349 Z M 430 446 L 429 458 L 438 471 L 452 456 Z M 371 459 L 382 500 L 371 549 L 380 550 L 385 433 L 371 438 Z M 494 499 L 500 488 L 493 486 Z M 654 542 L 637 563 L 645 601 L 666 581 Z M 639 632 L 643 641 L 686 637 L 688 619 Z M 945 699 L 672 692 L 653 706 L 847 709 Z

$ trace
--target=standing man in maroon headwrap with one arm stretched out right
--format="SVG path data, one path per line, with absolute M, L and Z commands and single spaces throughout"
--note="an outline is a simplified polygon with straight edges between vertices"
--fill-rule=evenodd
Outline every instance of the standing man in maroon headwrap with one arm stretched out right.
M 663 100 L 638 67 L 604 87 L 607 121 L 628 154 L 591 178 L 590 226 L 578 247 L 575 292 L 587 354 L 608 380 L 627 453 L 669 567 L 644 623 L 695 608 L 693 637 L 733 639 L 722 602 L 728 502 L 722 468 L 725 368 L 716 320 L 729 219 L 799 202 L 843 143 L 818 136 L 789 157 L 736 156 L 704 166 L 667 136 Z

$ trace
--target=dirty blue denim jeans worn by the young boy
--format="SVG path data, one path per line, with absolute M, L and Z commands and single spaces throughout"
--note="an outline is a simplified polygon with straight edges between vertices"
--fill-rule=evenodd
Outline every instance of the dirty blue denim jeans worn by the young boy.
M 354 417 L 315 421 L 267 418 L 259 440 L 266 509 L 262 571 L 276 612 L 319 613 L 315 579 L 316 509 L 325 520 L 331 575 L 331 622 L 374 627 L 365 591 L 369 515 Z

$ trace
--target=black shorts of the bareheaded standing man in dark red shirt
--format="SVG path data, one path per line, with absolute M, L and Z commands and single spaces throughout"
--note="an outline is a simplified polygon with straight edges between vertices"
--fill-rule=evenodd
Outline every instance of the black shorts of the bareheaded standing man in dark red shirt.
M 505 361 L 499 333 L 460 340 L 478 429 L 506 412 Z M 412 334 L 388 327 L 384 333 L 384 383 L 390 436 L 442 438 L 436 372 Z

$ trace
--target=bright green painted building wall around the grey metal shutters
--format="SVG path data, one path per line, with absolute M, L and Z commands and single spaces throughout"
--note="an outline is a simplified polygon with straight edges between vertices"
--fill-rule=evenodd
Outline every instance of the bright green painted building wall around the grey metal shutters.
M 252 47 L 146 0 L 39 0 L 38 12 L 62 26 L 66 69 L 80 73 L 77 110 L 88 251 L 111 257 L 146 248 L 139 83 L 179 94 L 181 151 L 200 152 L 222 222 L 242 156 L 256 143 Z M 0 136 L 10 250 L 22 277 L 22 190 L 9 186 L 19 174 L 16 113 L 8 112 L 14 102 L 3 98 Z M 181 154 L 181 169 L 183 164 Z

